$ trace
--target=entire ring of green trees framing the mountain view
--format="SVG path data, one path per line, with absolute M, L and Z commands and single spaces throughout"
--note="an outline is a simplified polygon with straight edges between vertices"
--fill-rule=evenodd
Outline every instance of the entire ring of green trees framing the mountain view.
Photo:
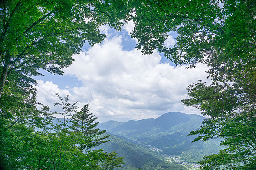
M 255 0 L 0 0 L 1 167 L 122 166 L 125 158 L 95 148 L 108 143 L 108 135 L 96 127 L 89 105 L 79 110 L 69 97 L 56 94 L 54 105 L 62 112 L 53 112 L 37 103 L 33 76 L 42 70 L 64 75 L 85 42 L 93 46 L 106 38 L 99 26 L 120 31 L 132 21 L 131 38 L 143 54 L 156 50 L 187 69 L 197 63 L 209 67 L 211 83 L 191 83 L 189 98 L 181 101 L 207 116 L 200 128 L 188 133 L 193 142 L 219 138 L 223 146 L 203 157 L 200 169 L 255 170 L 255 20 Z M 171 48 L 164 43 L 168 32 L 177 33 Z M 63 119 L 54 124 L 56 115 Z

